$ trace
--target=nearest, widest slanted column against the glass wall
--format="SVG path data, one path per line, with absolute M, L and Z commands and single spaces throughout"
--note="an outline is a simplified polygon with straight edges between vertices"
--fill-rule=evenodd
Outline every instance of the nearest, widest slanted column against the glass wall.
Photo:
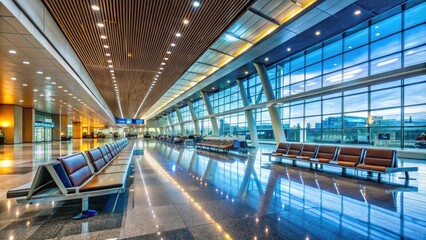
M 275 95 L 272 90 L 271 82 L 269 81 L 268 72 L 265 65 L 259 63 L 253 63 L 259 74 L 260 81 L 262 82 L 263 90 L 268 101 L 274 100 Z M 268 107 L 269 116 L 271 117 L 272 130 L 274 131 L 275 142 L 285 142 L 284 130 L 281 125 L 281 118 L 276 106 Z

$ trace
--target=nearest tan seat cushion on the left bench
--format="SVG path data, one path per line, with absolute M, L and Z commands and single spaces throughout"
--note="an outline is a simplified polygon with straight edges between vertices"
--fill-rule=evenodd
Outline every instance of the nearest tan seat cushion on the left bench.
M 98 174 L 80 188 L 80 192 L 120 188 L 124 186 L 126 173 Z

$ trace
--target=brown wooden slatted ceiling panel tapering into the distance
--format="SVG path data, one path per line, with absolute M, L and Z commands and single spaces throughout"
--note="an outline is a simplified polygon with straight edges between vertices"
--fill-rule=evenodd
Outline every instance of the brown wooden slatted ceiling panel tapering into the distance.
M 161 67 L 164 71 L 139 112 L 143 115 L 253 0 L 43 0 L 116 117 L 120 117 L 107 60 L 117 79 L 124 117 L 133 118 Z M 188 19 L 189 25 L 182 21 Z M 96 23 L 103 22 L 101 30 Z M 104 31 L 106 40 L 100 38 Z M 176 32 L 182 33 L 177 38 Z M 175 42 L 176 47 L 170 44 Z M 103 45 L 109 45 L 109 49 Z M 166 54 L 171 51 L 172 54 Z M 111 57 L 105 53 L 111 53 Z M 132 57 L 127 54 L 131 52 Z

